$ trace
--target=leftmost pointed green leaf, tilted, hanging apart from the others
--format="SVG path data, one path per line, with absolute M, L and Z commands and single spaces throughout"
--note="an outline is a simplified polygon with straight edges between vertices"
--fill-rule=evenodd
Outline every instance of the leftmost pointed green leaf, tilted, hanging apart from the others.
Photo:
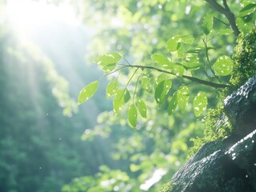
M 87 86 L 84 86 L 82 90 L 80 90 L 79 97 L 78 97 L 78 105 L 83 102 L 86 102 L 89 98 L 91 98 L 96 90 L 98 89 L 99 81 L 91 82 Z

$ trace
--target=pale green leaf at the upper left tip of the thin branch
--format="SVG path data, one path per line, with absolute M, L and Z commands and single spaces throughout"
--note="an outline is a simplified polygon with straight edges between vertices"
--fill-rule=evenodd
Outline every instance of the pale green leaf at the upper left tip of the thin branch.
M 93 62 L 103 67 L 104 73 L 109 73 L 116 68 L 116 62 L 119 62 L 121 55 L 116 52 L 102 54 L 99 58 L 95 58 Z

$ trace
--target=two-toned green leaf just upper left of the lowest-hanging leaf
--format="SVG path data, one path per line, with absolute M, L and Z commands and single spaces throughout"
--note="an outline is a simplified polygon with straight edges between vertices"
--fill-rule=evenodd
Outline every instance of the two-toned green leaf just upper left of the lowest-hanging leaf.
M 117 91 L 115 98 L 113 99 L 113 110 L 115 114 L 118 114 L 121 107 L 131 98 L 127 88 Z

